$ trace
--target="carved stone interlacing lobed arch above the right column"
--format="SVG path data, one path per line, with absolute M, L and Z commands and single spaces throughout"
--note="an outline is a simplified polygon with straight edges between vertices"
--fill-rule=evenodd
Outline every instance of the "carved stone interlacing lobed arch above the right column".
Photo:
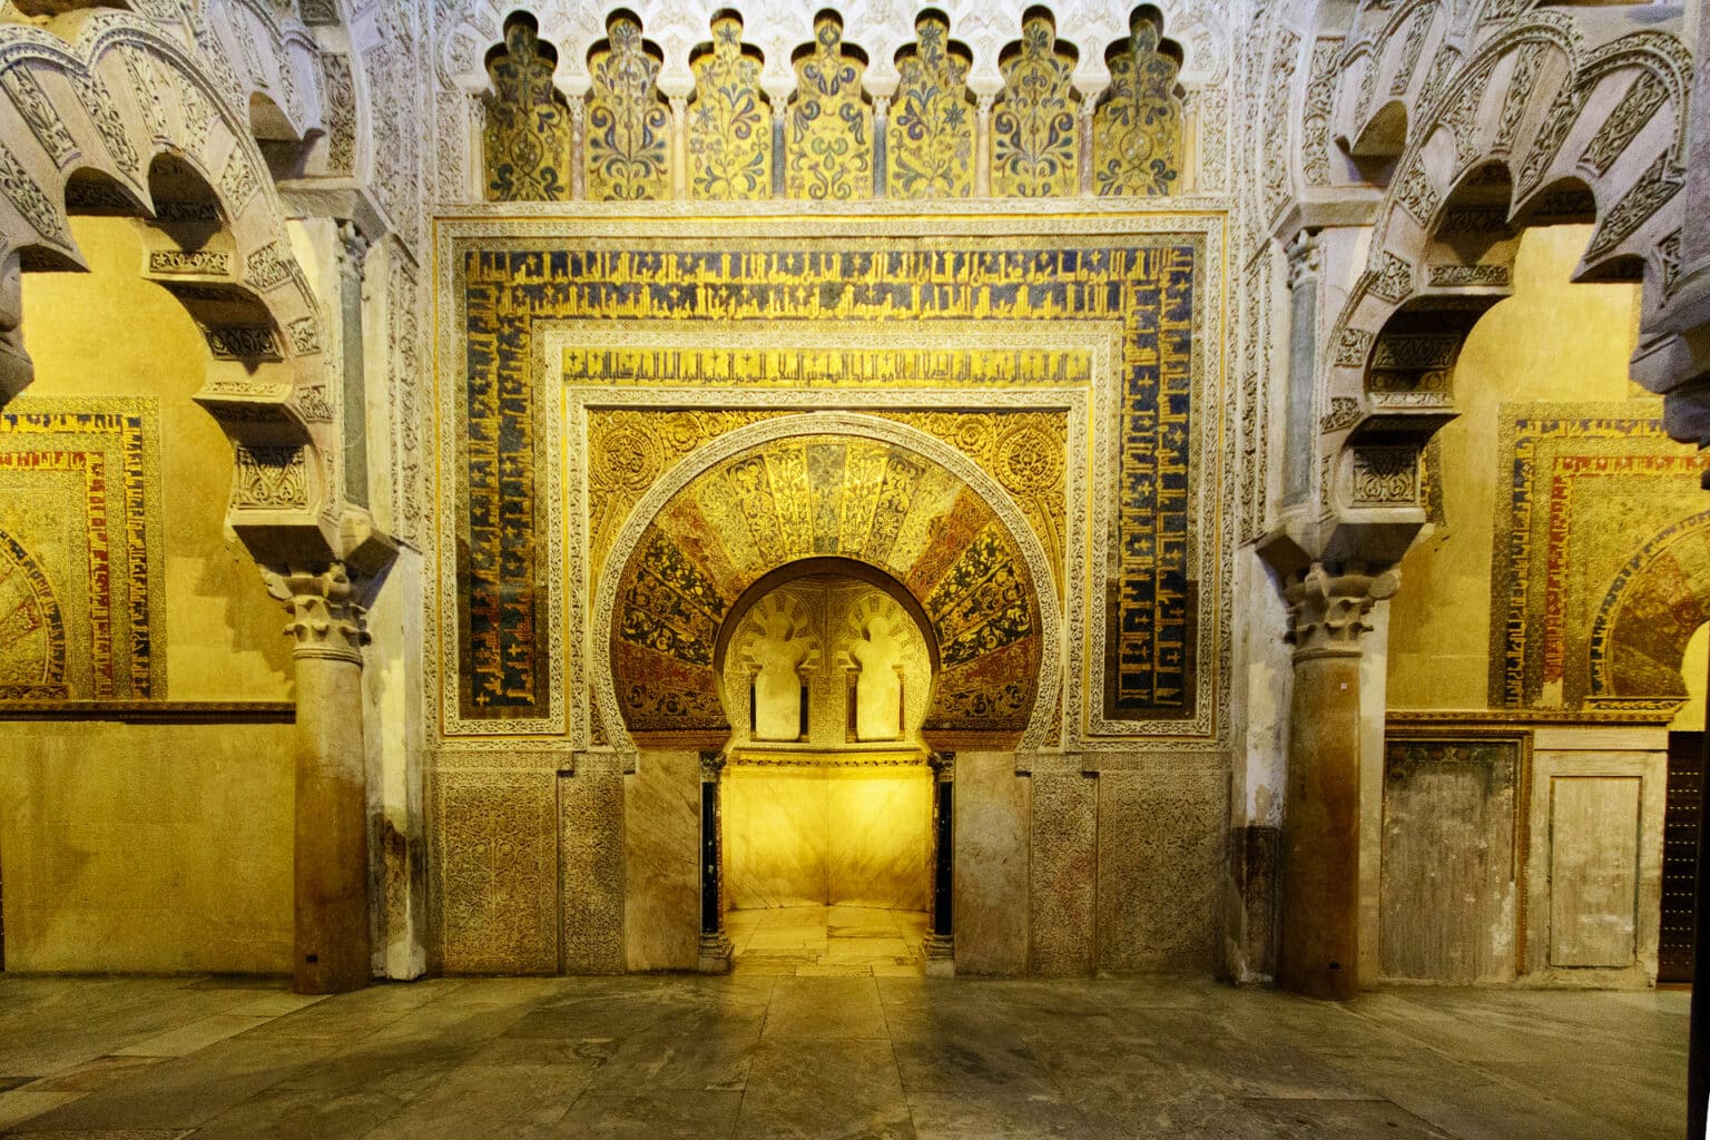
M 1269 67 L 1298 92 L 1298 145 L 1265 166 L 1259 209 L 1281 241 L 1300 226 L 1288 203 L 1371 226 L 1317 344 L 1310 499 L 1325 520 L 1423 520 L 1423 448 L 1455 415 L 1460 345 L 1510 296 L 1525 227 L 1592 226 L 1575 280 L 1643 282 L 1647 323 L 1666 308 L 1693 62 L 1635 12 L 1411 0 L 1361 5 L 1347 32 L 1279 22 Z M 1318 272 L 1317 239 L 1291 256 Z

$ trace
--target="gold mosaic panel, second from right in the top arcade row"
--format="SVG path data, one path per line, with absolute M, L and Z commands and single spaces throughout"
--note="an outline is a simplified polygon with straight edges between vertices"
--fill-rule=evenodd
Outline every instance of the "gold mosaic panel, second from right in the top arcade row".
M 1079 190 L 1081 123 L 1070 89 L 1074 56 L 1057 50 L 1048 15 L 1029 15 L 1021 43 L 999 63 L 1004 94 L 992 115 L 992 193 L 1067 197 Z

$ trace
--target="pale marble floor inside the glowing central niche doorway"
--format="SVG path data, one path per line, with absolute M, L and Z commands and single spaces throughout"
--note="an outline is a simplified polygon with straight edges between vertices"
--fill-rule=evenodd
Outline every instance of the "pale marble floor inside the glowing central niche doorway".
M 725 933 L 739 974 L 920 978 L 923 911 L 872 906 L 778 906 L 730 911 Z

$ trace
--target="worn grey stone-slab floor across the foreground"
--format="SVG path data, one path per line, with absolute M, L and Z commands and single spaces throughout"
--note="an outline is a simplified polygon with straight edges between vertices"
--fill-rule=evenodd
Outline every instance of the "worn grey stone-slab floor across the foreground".
M 1686 1008 L 752 971 L 315 1000 L 268 979 L 0 974 L 0 1135 L 1672 1140 Z

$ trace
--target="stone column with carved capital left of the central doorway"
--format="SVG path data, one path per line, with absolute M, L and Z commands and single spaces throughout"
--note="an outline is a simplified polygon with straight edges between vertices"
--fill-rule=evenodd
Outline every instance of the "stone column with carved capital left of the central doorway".
M 363 750 L 366 610 L 340 562 L 263 571 L 296 639 L 298 773 L 292 848 L 298 993 L 359 990 L 371 976 L 368 778 Z

